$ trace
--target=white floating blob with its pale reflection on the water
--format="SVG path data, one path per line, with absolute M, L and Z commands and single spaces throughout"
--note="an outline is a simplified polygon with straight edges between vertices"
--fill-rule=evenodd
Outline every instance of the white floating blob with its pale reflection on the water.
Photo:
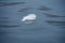
M 24 16 L 22 22 L 26 23 L 26 24 L 30 24 L 32 22 L 35 22 L 36 19 L 36 14 L 28 14 L 27 16 Z

